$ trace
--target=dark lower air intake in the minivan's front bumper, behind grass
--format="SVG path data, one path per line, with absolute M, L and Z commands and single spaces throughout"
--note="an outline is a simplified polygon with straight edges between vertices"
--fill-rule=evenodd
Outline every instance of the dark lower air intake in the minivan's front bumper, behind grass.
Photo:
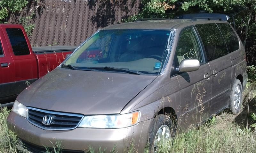
M 23 149 L 25 149 L 32 153 L 47 153 L 47 150 L 45 149 L 45 147 L 37 146 L 32 143 L 23 141 L 21 139 L 19 139 L 19 140 L 21 142 L 18 144 L 19 145 L 18 149 L 20 149 L 20 151 L 24 151 Z M 23 149 L 21 149 L 21 148 L 23 148 Z M 48 152 L 54 152 L 53 148 L 47 148 L 47 149 L 48 149 Z M 84 151 L 61 149 L 61 153 L 84 153 Z

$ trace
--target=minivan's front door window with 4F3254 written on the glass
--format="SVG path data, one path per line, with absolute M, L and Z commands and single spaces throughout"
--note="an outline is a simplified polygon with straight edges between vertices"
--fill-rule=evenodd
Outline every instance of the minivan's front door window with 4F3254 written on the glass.
M 197 59 L 200 63 L 204 62 L 196 34 L 192 27 L 180 33 L 176 55 L 179 64 L 184 59 Z

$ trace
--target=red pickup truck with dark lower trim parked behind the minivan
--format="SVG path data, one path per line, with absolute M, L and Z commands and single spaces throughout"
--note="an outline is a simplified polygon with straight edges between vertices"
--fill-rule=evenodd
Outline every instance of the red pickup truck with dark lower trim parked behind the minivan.
M 31 47 L 21 25 L 0 24 L 0 104 L 55 69 L 75 46 Z

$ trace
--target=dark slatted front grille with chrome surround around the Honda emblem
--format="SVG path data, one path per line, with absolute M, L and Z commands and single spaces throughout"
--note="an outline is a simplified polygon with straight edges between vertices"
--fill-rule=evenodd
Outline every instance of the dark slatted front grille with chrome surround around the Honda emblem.
M 52 120 L 49 125 L 43 124 L 44 116 L 51 116 Z M 78 126 L 83 115 L 71 113 L 59 113 L 46 111 L 37 108 L 28 107 L 28 121 L 45 130 L 71 130 Z

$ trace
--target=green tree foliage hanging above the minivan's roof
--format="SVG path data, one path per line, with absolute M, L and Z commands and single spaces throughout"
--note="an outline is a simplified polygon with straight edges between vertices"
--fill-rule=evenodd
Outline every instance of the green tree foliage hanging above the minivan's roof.
M 255 11 L 256 0 L 142 0 L 142 9 L 124 22 L 137 18 L 173 18 L 188 13 L 226 13 L 234 6 L 246 6 Z

